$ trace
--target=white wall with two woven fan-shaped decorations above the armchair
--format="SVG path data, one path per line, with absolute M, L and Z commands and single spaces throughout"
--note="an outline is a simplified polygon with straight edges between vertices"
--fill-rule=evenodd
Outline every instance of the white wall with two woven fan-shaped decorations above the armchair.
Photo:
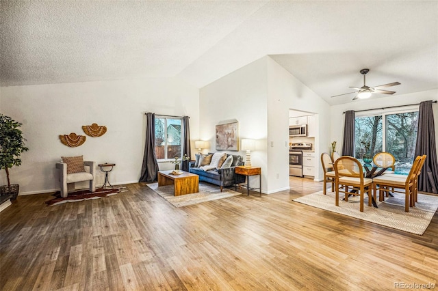
M 61 156 L 83 155 L 86 160 L 116 163 L 112 184 L 138 182 L 144 152 L 144 113 L 189 115 L 192 140 L 199 133 L 198 89 L 178 79 L 139 79 L 1 87 L 1 112 L 22 122 L 29 152 L 23 164 L 11 169 L 11 182 L 20 193 L 59 189 L 55 163 Z M 102 137 L 87 137 L 77 148 L 64 146 L 59 135 L 85 135 L 81 126 L 107 126 Z M 192 143 L 193 147 L 193 143 Z M 192 149 L 192 152 L 194 149 Z M 160 168 L 172 164 L 160 164 Z M 104 175 L 96 169 L 97 184 Z M 0 172 L 5 184 L 5 171 Z M 81 185 L 79 185 L 80 187 Z

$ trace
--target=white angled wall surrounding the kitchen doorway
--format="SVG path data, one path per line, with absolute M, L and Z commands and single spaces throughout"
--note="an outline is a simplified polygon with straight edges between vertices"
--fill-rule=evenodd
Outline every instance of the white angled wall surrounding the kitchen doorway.
M 318 171 L 315 180 L 322 180 L 324 174 L 320 166 L 320 154 L 330 147 L 329 124 L 330 105 L 320 98 L 309 87 L 287 72 L 285 68 L 268 57 L 268 140 L 274 141 L 269 148 L 269 169 L 276 169 L 270 174 L 280 172 L 280 178 L 270 176 L 269 181 L 279 187 L 289 183 L 289 109 L 318 114 L 317 132 L 315 136 L 315 159 Z M 287 146 L 285 146 L 287 143 Z M 272 159 L 271 159 L 272 156 Z M 282 174 L 283 173 L 283 174 Z

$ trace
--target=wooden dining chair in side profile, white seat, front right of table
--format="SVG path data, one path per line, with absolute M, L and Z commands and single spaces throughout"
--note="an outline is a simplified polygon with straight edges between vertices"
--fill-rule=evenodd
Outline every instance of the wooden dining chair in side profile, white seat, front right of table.
M 388 191 L 396 193 L 404 193 L 404 211 L 409 212 L 409 207 L 414 206 L 415 200 L 415 180 L 417 178 L 417 171 L 420 166 L 422 156 L 417 156 L 412 164 L 411 171 L 408 175 L 382 175 L 373 179 L 374 193 L 377 193 L 378 187 L 378 200 L 385 200 L 385 193 Z M 389 188 L 392 188 L 389 190 Z M 400 189 L 400 190 L 398 190 Z

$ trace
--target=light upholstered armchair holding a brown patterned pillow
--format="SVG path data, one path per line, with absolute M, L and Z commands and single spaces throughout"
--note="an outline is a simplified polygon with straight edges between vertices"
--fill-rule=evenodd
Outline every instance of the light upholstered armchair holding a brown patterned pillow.
M 96 182 L 94 180 L 94 169 L 96 167 L 96 162 L 93 161 L 83 161 L 85 168 L 84 172 L 67 174 L 67 164 L 66 163 L 56 163 L 56 168 L 60 169 L 60 183 L 61 183 L 61 196 L 67 197 L 68 186 L 67 184 L 90 181 L 90 192 L 96 191 Z

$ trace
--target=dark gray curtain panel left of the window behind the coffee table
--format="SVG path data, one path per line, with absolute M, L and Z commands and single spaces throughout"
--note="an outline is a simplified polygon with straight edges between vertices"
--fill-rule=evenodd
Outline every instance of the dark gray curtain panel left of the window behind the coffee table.
M 158 163 L 155 155 L 155 114 L 146 113 L 146 143 L 144 144 L 144 156 L 142 173 L 138 182 L 157 182 Z

